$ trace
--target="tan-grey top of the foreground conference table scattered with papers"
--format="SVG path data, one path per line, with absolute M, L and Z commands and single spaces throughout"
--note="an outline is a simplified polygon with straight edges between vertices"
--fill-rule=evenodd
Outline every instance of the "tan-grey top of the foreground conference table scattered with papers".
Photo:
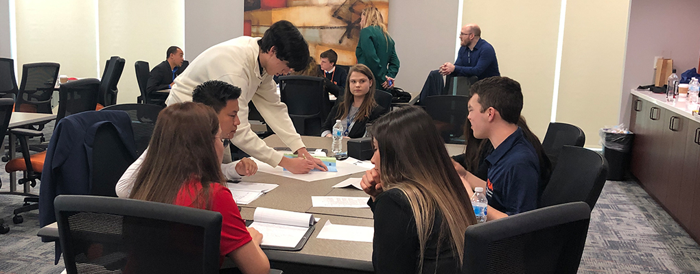
M 276 135 L 268 136 L 264 140 L 269 147 L 286 147 Z M 332 138 L 325 137 L 302 136 L 302 140 L 308 148 L 330 149 L 332 143 Z M 346 147 L 347 140 L 343 140 L 343 147 Z M 450 155 L 463 153 L 464 150 L 464 145 L 447 144 L 445 147 Z M 370 196 L 359 189 L 332 188 L 338 182 L 347 178 L 361 178 L 363 174 L 364 172 L 357 172 L 307 182 L 258 171 L 255 175 L 243 179 L 244 182 L 279 185 L 255 201 L 247 205 L 239 205 L 244 219 L 253 219 L 255 208 L 258 207 L 307 212 L 319 219 L 302 250 L 297 252 L 264 250 L 272 268 L 281 269 L 285 273 L 374 273 L 372 243 L 316 238 L 326 221 L 332 224 L 372 227 L 374 220 L 370 208 L 314 208 L 311 202 L 311 196 L 358 196 L 369 199 Z M 57 238 L 55 224 L 42 228 L 38 236 Z M 232 266 L 234 266 L 233 262 L 227 259 L 223 268 Z

